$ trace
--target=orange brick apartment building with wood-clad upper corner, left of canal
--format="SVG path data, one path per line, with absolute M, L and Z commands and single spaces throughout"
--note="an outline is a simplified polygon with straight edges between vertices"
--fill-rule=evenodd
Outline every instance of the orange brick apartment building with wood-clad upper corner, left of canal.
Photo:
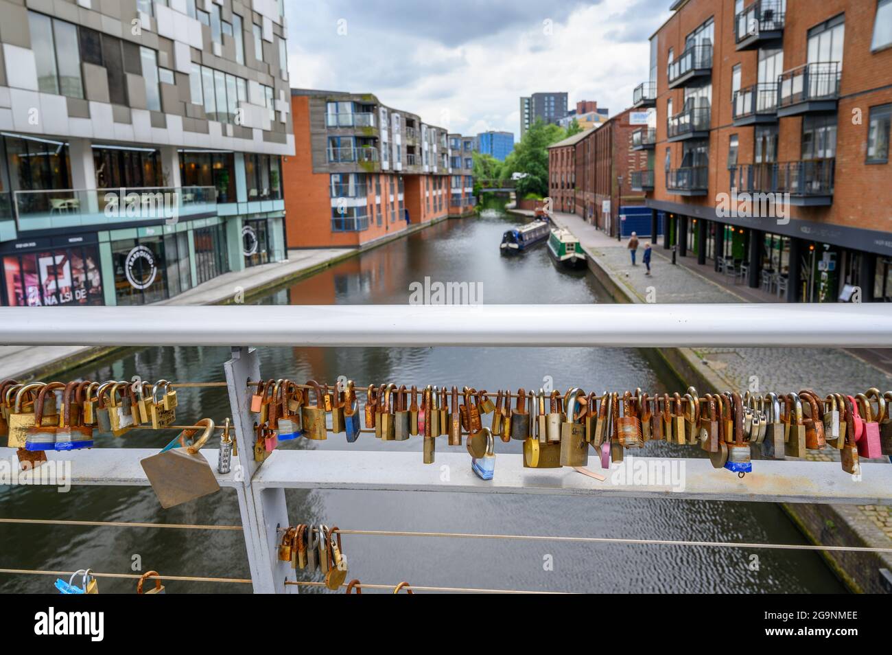
M 292 89 L 291 101 L 289 248 L 359 247 L 473 211 L 473 137 L 448 135 L 372 94 Z

